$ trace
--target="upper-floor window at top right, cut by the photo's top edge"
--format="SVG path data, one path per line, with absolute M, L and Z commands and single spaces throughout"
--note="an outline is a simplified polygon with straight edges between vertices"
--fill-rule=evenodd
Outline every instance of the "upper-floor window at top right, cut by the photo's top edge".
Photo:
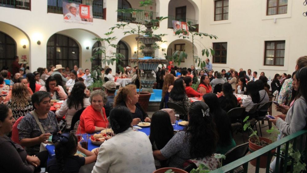
M 267 0 L 266 15 L 287 13 L 288 0 Z

